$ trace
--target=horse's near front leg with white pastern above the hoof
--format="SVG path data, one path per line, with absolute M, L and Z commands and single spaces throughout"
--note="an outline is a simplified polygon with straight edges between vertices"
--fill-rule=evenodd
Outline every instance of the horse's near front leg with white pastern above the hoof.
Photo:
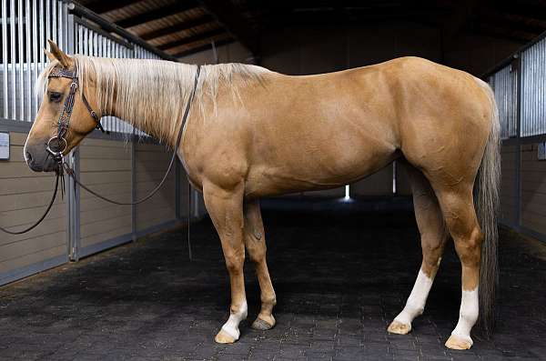
M 243 275 L 245 262 L 243 185 L 233 189 L 204 185 L 203 196 L 208 214 L 220 237 L 231 285 L 229 318 L 217 333 L 215 341 L 220 344 L 231 344 L 238 340 L 239 323 L 247 318 L 248 313 Z

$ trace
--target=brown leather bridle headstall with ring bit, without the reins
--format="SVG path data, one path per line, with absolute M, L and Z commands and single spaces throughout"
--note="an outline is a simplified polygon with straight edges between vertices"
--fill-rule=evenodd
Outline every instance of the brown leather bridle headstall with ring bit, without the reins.
M 68 131 L 68 126 L 70 125 L 70 117 L 72 116 L 72 110 L 74 109 L 74 101 L 76 98 L 76 91 L 79 87 L 79 79 L 77 76 L 77 67 L 74 66 L 74 71 L 68 70 L 64 67 L 56 66 L 51 70 L 51 73 L 48 76 L 49 78 L 52 77 L 66 77 L 68 79 L 72 79 L 72 83 L 70 84 L 70 91 L 68 92 L 68 95 L 66 95 L 65 99 L 65 105 L 63 106 L 63 110 L 61 110 L 61 114 L 59 115 L 59 120 L 57 121 L 57 135 L 54 135 L 47 141 L 47 145 L 45 150 L 50 155 L 53 155 L 57 163 L 63 162 L 63 153 L 65 153 L 66 148 L 68 147 L 68 142 L 66 142 L 66 133 Z M 87 102 L 86 95 L 84 95 L 82 91 L 82 100 L 84 102 L 84 105 L 86 105 L 87 111 L 93 117 L 93 119 L 96 121 L 96 129 L 99 129 L 101 132 L 105 133 L 105 129 L 100 124 L 100 117 L 96 114 L 96 112 L 91 108 L 91 105 L 89 105 L 89 102 Z M 106 132 L 108 133 L 108 132 Z M 53 149 L 56 148 L 56 149 Z

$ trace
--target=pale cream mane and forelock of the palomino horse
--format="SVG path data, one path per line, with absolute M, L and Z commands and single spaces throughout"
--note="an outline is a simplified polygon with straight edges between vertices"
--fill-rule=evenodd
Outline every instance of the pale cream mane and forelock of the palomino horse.
M 153 59 L 112 59 L 75 55 L 80 85 L 86 94 L 89 80 L 96 83 L 96 99 L 101 115 L 116 116 L 144 132 L 156 135 L 160 141 L 176 137 L 184 109 L 194 85 L 196 65 Z M 47 77 L 58 65 L 50 63 L 38 79 L 36 90 L 45 93 Z M 203 65 L 197 84 L 194 106 L 204 111 L 207 99 L 216 111 L 218 89 L 231 89 L 234 101 L 239 100 L 239 89 L 234 80 L 243 85 L 262 82 L 269 71 L 256 65 L 238 63 Z M 240 82 L 237 82 L 240 85 Z M 114 93 L 116 90 L 116 94 Z

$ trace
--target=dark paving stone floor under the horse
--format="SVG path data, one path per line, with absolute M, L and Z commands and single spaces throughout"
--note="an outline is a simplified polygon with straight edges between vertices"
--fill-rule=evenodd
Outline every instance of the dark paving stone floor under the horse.
M 259 293 L 247 265 L 249 313 L 240 340 L 214 343 L 227 319 L 228 279 L 216 233 L 204 220 L 191 229 L 192 262 L 180 229 L 1 287 L 0 359 L 546 359 L 544 245 L 501 232 L 497 332 L 475 338 L 470 351 L 451 351 L 443 343 L 460 301 L 452 246 L 411 334 L 386 331 L 420 266 L 410 212 L 268 204 L 268 265 L 278 296 L 272 330 L 249 327 Z

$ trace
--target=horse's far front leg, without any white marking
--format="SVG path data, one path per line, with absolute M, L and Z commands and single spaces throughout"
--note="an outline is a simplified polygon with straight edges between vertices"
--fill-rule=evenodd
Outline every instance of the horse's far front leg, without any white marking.
M 275 317 L 273 317 L 272 311 L 273 306 L 277 304 L 277 298 L 271 284 L 268 264 L 266 262 L 266 237 L 258 200 L 245 204 L 244 232 L 248 256 L 256 268 L 261 298 L 261 309 L 258 317 L 252 324 L 252 328 L 268 330 L 275 326 Z

